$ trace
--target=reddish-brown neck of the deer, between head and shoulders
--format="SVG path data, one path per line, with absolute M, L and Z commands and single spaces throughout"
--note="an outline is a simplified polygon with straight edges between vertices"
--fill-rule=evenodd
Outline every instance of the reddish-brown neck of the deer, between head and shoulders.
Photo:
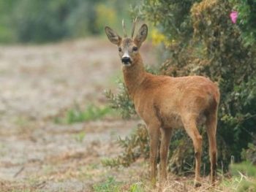
M 124 82 L 127 85 L 129 96 L 133 99 L 141 82 L 146 77 L 143 61 L 140 55 L 134 61 L 132 66 L 123 66 Z

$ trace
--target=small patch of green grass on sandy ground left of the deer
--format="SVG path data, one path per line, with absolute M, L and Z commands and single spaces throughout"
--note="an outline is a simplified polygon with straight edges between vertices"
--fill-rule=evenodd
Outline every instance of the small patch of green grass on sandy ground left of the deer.
M 57 117 L 56 123 L 79 123 L 89 120 L 97 120 L 104 118 L 112 112 L 110 107 L 98 107 L 94 104 L 89 104 L 86 109 L 81 109 L 78 104 L 75 104 L 72 109 L 67 110 L 67 113 Z M 64 116 L 64 117 L 63 117 Z

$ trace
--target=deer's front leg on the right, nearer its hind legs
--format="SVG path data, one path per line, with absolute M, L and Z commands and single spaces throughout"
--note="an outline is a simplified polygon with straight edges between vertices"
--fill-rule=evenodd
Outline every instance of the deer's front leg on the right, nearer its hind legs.
M 150 139 L 150 165 L 151 165 L 151 184 L 155 187 L 157 183 L 157 155 L 159 145 L 159 123 L 148 125 Z

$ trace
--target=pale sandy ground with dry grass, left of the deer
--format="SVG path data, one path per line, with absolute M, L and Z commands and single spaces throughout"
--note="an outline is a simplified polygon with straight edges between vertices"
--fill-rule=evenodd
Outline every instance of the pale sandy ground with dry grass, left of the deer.
M 144 47 L 143 58 L 151 63 L 149 50 Z M 53 120 L 74 102 L 106 104 L 103 91 L 116 87 L 120 69 L 116 47 L 103 39 L 0 47 L 0 191 L 91 191 L 110 175 L 145 174 L 100 163 L 120 153 L 116 138 L 138 120 Z

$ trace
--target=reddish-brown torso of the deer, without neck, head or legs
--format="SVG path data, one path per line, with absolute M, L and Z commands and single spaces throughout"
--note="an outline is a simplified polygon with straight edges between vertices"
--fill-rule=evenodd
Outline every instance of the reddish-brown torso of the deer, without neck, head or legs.
M 134 96 L 135 108 L 143 120 L 161 118 L 166 126 L 181 126 L 184 115 L 197 115 L 203 121 L 206 113 L 217 110 L 219 90 L 206 77 L 168 77 L 147 74 Z

